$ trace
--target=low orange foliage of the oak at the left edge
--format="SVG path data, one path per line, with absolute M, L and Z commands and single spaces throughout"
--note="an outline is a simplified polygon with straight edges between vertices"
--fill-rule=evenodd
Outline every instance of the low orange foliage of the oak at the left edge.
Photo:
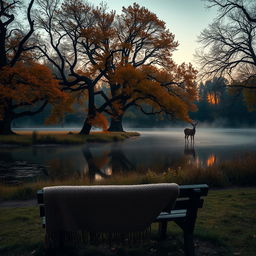
M 13 67 L 7 65 L 0 70 L 0 119 L 7 102 L 16 109 L 24 106 L 33 108 L 40 101 L 47 101 L 53 106 L 50 122 L 71 111 L 69 95 L 60 90 L 59 81 L 45 65 L 19 61 Z

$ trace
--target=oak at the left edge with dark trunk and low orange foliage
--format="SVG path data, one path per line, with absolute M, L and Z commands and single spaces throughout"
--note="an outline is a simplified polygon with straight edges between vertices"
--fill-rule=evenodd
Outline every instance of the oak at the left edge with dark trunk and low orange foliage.
M 23 10 L 22 1 L 0 0 L 0 134 L 13 133 L 15 118 L 35 115 L 47 103 L 55 106 L 53 115 L 60 114 L 60 106 L 67 100 L 51 71 L 29 53 L 34 41 L 33 3 L 31 0 L 27 6 L 28 29 L 24 29 L 17 15 L 17 10 Z

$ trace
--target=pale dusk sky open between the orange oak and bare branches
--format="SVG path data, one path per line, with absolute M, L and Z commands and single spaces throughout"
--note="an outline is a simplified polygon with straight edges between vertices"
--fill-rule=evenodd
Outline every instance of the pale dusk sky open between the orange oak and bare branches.
M 95 5 L 102 0 L 89 1 Z M 216 10 L 205 8 L 202 0 L 107 0 L 109 9 L 120 13 L 122 6 L 134 2 L 145 6 L 163 20 L 179 42 L 178 50 L 174 53 L 177 63 L 191 62 L 194 65 L 194 53 L 199 44 L 196 42 L 200 32 L 216 17 Z

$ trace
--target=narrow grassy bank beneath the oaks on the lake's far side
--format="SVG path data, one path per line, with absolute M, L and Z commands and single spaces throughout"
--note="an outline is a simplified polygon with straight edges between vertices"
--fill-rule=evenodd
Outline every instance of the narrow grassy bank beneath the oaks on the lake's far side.
M 0 135 L 2 145 L 44 145 L 44 144 L 83 144 L 86 142 L 113 142 L 139 136 L 137 132 L 92 132 L 90 135 L 63 132 L 20 132 L 15 135 Z

